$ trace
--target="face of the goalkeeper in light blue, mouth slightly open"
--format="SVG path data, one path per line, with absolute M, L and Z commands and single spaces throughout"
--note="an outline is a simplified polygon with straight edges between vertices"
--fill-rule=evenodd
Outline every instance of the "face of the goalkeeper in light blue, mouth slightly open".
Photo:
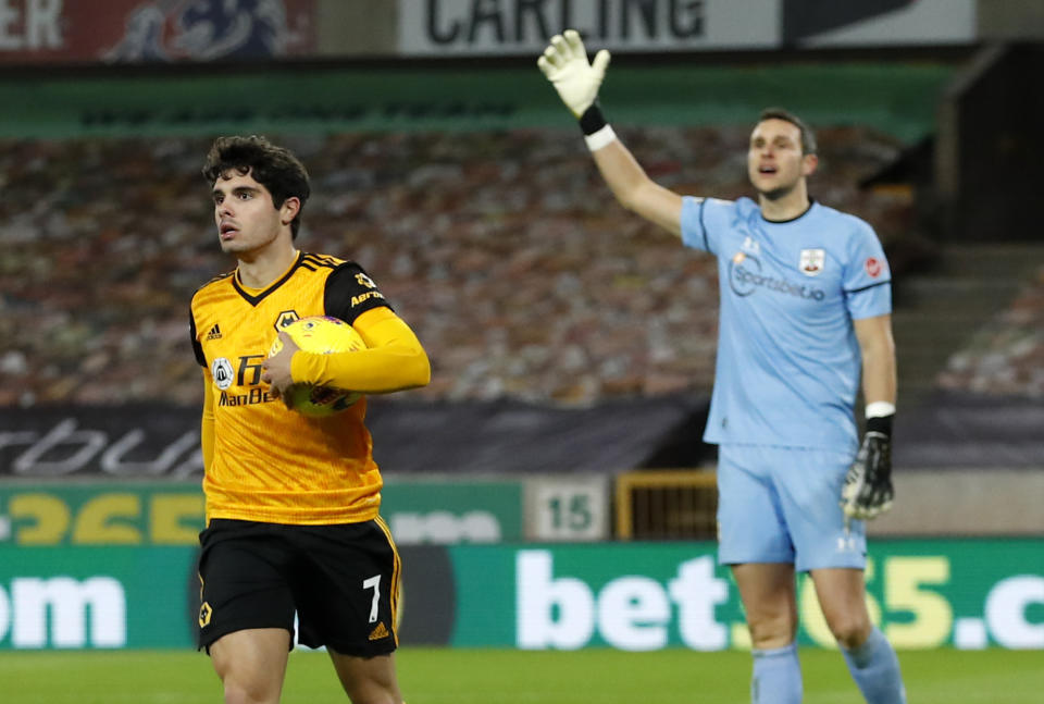
M 816 157 L 803 153 L 797 125 L 773 118 L 755 126 L 747 151 L 747 174 L 760 195 L 771 200 L 782 198 L 815 168 Z

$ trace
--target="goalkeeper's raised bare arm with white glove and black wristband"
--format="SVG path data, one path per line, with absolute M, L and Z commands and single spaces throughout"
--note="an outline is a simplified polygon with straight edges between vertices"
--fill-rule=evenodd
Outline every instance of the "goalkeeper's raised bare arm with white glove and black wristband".
M 580 33 L 567 29 L 551 37 L 536 63 L 580 121 L 587 147 L 617 200 L 681 236 L 682 197 L 648 177 L 601 114 L 598 89 L 609 65 L 609 52 L 602 49 L 588 61 Z

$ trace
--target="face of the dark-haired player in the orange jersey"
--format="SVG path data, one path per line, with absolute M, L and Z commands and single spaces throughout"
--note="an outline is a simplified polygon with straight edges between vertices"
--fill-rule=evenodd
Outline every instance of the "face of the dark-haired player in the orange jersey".
M 222 251 L 260 251 L 276 242 L 281 233 L 289 232 L 286 225 L 293 214 L 288 211 L 296 207 L 297 199 L 287 198 L 282 208 L 276 208 L 269 189 L 249 173 L 226 171 L 214 183 L 212 195 Z

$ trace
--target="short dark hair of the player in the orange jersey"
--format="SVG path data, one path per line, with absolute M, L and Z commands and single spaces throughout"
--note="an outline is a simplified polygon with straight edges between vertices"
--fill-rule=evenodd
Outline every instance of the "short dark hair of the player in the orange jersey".
M 297 198 L 301 207 L 290 222 L 293 237 L 301 226 L 301 211 L 311 193 L 304 164 L 289 149 L 278 147 L 264 137 L 219 137 L 203 162 L 203 177 L 213 185 L 227 171 L 250 174 L 272 194 L 272 202 L 282 208 L 287 198 Z

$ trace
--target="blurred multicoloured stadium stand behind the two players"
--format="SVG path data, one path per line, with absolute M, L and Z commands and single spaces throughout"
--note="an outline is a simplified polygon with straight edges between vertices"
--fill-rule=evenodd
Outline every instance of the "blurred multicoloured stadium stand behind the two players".
M 620 129 L 682 193 L 748 194 L 743 128 Z M 298 246 L 361 263 L 434 368 L 414 392 L 589 405 L 709 391 L 714 261 L 611 199 L 572 129 L 272 137 L 312 175 Z M 860 188 L 900 145 L 819 132 L 812 195 L 878 230 L 902 274 L 921 248 L 909 193 Z M 221 255 L 209 140 L 0 148 L 0 405 L 201 400 L 192 292 Z M 1044 395 L 1044 270 L 959 351 L 941 387 Z

